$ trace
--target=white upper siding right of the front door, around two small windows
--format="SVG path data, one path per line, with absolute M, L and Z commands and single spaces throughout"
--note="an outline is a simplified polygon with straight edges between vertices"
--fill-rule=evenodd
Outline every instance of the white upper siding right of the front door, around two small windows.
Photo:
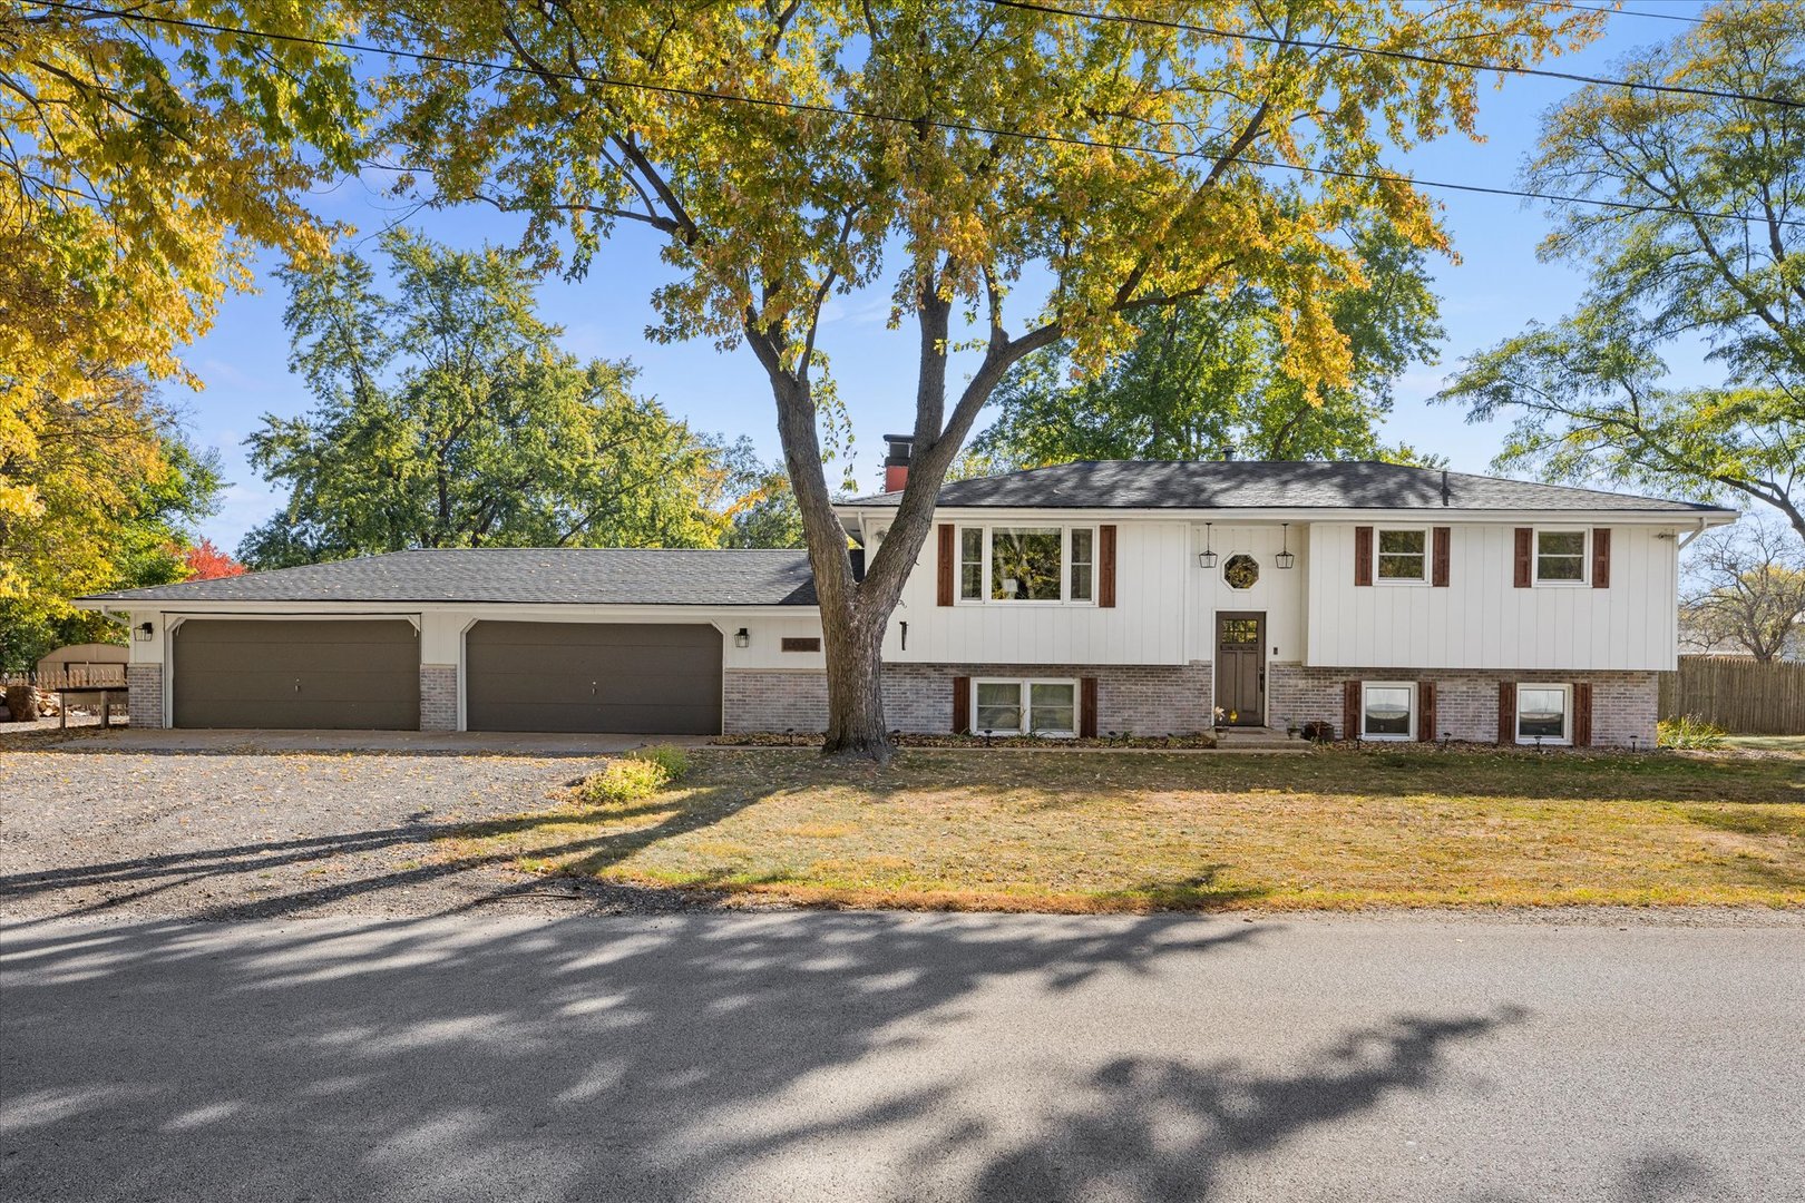
M 1549 671 L 1675 666 L 1677 556 L 1673 539 L 1659 537 L 1662 528 L 1612 527 L 1610 588 L 1599 590 L 1514 588 L 1513 532 L 1529 523 L 1440 525 L 1451 527 L 1448 588 L 1356 586 L 1354 523 L 1312 527 L 1305 664 Z

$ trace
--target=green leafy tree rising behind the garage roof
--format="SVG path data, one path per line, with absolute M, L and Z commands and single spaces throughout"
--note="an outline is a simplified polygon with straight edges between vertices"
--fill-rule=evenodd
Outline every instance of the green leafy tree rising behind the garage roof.
M 626 363 L 581 363 L 534 316 L 522 254 L 383 238 L 289 272 L 291 366 L 318 406 L 265 415 L 251 464 L 287 507 L 240 557 L 274 568 L 413 546 L 709 546 L 729 467 Z

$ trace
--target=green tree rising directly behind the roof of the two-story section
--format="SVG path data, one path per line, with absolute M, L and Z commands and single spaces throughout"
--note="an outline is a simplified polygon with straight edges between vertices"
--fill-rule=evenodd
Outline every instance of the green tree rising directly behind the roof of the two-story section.
M 1332 301 L 1348 344 L 1345 384 L 1283 368 L 1276 307 L 1245 285 L 1135 317 L 1139 335 L 1099 375 L 1074 379 L 1069 355 L 1036 355 L 996 390 L 996 422 L 973 444 L 1004 467 L 1070 460 L 1399 460 L 1377 426 L 1393 379 L 1433 363 L 1442 337 L 1424 253 L 1390 227 L 1354 233 L 1366 276 Z

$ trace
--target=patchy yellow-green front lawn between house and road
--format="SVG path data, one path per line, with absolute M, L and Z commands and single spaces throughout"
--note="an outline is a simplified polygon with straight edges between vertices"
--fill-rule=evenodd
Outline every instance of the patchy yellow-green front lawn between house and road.
M 1796 907 L 1805 758 L 904 750 L 879 772 L 708 748 L 655 797 L 487 822 L 446 855 L 857 907 Z

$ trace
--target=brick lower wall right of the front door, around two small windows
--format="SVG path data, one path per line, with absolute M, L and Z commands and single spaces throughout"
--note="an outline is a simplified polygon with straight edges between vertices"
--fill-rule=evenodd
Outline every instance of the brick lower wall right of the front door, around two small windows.
M 1592 684 L 1592 743 L 1628 747 L 1637 739 L 1653 747 L 1659 687 L 1653 673 L 1543 673 L 1480 669 L 1325 669 L 1274 664 L 1267 671 L 1269 714 L 1274 727 L 1287 721 L 1327 720 L 1341 730 L 1343 687 L 1350 680 L 1435 682 L 1435 732 L 1471 743 L 1498 741 L 1498 682 Z

